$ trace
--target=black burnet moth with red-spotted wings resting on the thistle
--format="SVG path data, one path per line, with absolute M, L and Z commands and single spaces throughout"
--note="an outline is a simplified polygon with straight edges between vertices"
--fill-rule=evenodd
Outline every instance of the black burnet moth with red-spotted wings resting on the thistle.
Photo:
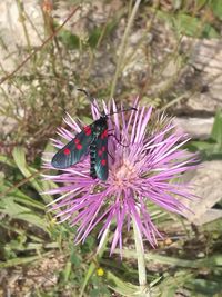
M 78 90 L 83 91 L 89 98 L 85 90 Z M 109 176 L 108 118 L 113 113 L 125 112 L 129 110 L 137 109 L 131 107 L 109 115 L 101 115 L 98 120 L 93 121 L 89 126 L 85 126 L 82 131 L 75 136 L 75 138 L 61 148 L 53 156 L 51 165 L 58 169 L 65 169 L 78 164 L 81 161 L 83 156 L 90 154 L 90 176 L 94 179 L 99 178 L 105 181 Z

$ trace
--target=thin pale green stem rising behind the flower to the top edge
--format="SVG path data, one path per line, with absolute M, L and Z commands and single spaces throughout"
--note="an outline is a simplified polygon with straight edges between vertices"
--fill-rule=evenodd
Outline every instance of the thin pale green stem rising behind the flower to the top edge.
M 128 24 L 127 24 L 127 28 L 125 28 L 125 31 L 124 31 L 124 34 L 123 34 L 123 38 L 122 38 L 122 41 L 121 41 L 121 44 L 120 44 L 120 55 L 119 55 L 119 58 L 118 58 L 118 63 L 117 63 L 117 68 L 115 68 L 115 72 L 114 72 L 114 77 L 113 77 L 113 81 L 112 81 L 112 86 L 111 86 L 110 98 L 113 98 L 113 95 L 114 95 L 114 91 L 115 91 L 117 81 L 118 81 L 118 78 L 119 78 L 119 75 L 120 75 L 121 65 L 123 62 L 125 47 L 127 47 L 127 43 L 128 43 L 128 37 L 129 37 L 129 33 L 130 33 L 130 29 L 132 27 L 133 20 L 135 18 L 137 11 L 139 9 L 140 2 L 141 2 L 141 0 L 137 0 L 135 1 L 135 4 L 134 4 L 132 13 L 131 13 L 131 16 L 129 18 L 129 21 L 128 21 Z

